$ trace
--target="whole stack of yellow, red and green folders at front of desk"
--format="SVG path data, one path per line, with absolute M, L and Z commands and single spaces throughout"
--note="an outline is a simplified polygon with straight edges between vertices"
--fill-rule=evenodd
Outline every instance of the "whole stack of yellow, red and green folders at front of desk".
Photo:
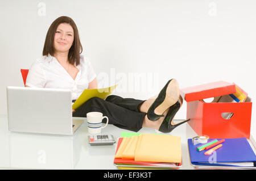
M 121 135 L 114 165 L 118 169 L 179 169 L 181 138 L 166 134 Z

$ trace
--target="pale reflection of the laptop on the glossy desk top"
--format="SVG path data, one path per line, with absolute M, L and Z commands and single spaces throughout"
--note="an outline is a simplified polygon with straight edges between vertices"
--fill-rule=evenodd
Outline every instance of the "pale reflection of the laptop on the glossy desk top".
M 14 133 L 9 134 L 11 168 L 74 169 L 79 161 L 81 142 L 73 136 Z

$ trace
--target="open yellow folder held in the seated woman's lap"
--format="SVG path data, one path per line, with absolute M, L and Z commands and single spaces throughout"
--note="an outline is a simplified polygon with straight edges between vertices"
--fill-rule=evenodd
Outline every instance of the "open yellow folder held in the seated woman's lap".
M 76 102 L 72 105 L 72 109 L 76 110 L 87 100 L 93 97 L 106 99 L 106 97 L 109 96 L 115 90 L 115 87 L 117 87 L 117 85 L 101 89 L 85 89 L 79 96 L 79 98 L 76 100 Z

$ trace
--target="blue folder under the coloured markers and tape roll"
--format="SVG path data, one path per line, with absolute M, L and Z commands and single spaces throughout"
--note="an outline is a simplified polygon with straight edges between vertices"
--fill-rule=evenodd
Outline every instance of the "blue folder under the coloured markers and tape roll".
M 208 142 L 212 140 L 214 139 L 209 139 Z M 197 151 L 197 146 L 199 144 L 193 145 L 192 139 L 188 139 L 192 165 L 235 166 L 235 163 L 251 162 L 255 167 L 256 155 L 246 138 L 225 138 L 222 147 L 217 149 L 214 155 L 205 155 L 207 150 Z

